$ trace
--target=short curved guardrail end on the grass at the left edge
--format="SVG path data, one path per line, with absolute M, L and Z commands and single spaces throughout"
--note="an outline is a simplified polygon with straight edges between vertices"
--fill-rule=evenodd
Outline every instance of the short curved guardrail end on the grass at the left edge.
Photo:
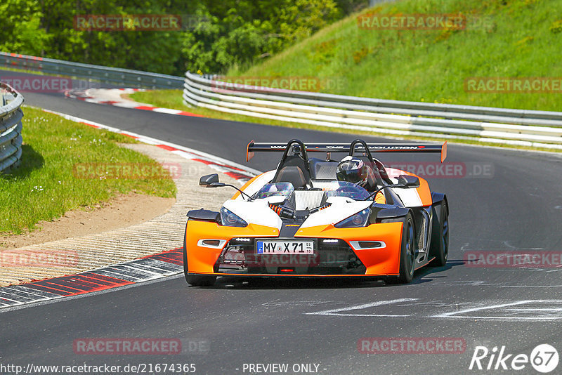
M 15 168 L 22 157 L 23 96 L 3 83 L 0 94 L 0 172 L 6 172 Z

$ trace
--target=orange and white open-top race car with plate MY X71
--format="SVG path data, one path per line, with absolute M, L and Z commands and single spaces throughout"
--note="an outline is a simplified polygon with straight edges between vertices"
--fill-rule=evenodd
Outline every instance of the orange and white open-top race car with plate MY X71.
M 445 265 L 449 243 L 444 194 L 423 178 L 385 168 L 372 152 L 440 152 L 443 145 L 254 143 L 254 152 L 283 152 L 277 169 L 252 178 L 219 212 L 188 212 L 185 279 L 217 276 L 384 277 L 412 281 L 414 270 Z M 308 158 L 326 152 L 325 159 Z M 346 152 L 341 162 L 334 152 Z M 221 187 L 218 175 L 203 187 Z M 229 185 L 233 186 L 233 185 Z M 234 187 L 234 186 L 233 186 Z

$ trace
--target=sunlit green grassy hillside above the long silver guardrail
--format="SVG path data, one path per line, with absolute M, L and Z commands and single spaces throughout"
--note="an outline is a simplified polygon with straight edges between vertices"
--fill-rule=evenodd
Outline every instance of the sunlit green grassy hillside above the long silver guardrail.
M 368 29 L 358 18 L 461 13 L 466 28 Z M 366 25 L 369 25 L 368 23 Z M 245 77 L 320 77 L 322 91 L 435 103 L 562 110 L 562 1 L 404 0 L 367 9 L 320 30 Z M 471 77 L 558 77 L 558 90 L 466 92 Z M 556 84 L 556 83 L 555 83 Z

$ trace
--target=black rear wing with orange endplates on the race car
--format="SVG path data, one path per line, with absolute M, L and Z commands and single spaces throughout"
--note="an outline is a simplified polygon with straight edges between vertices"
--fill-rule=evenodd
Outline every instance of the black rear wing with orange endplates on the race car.
M 291 142 L 289 142 L 291 143 Z M 267 142 L 254 142 L 253 140 L 248 143 L 246 149 L 246 161 L 254 157 L 254 152 L 279 152 L 285 151 L 288 143 L 267 143 Z M 306 152 L 350 152 L 350 143 L 306 143 L 304 145 Z M 439 152 L 441 154 L 441 162 L 445 161 L 447 157 L 447 141 L 443 145 L 436 144 L 422 144 L 414 145 L 412 143 L 370 143 L 367 144 L 370 152 Z M 365 147 L 358 144 L 355 150 L 361 151 Z

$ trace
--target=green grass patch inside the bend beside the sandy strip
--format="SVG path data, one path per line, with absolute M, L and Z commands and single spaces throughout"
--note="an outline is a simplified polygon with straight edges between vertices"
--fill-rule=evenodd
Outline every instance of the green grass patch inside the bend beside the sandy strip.
M 24 107 L 24 114 L 22 163 L 12 173 L 0 173 L 0 233 L 17 235 L 37 229 L 39 221 L 107 202 L 119 193 L 176 195 L 176 185 L 169 176 L 91 179 L 81 178 L 77 172 L 88 163 L 157 166 L 150 157 L 118 145 L 136 140 L 36 108 Z

